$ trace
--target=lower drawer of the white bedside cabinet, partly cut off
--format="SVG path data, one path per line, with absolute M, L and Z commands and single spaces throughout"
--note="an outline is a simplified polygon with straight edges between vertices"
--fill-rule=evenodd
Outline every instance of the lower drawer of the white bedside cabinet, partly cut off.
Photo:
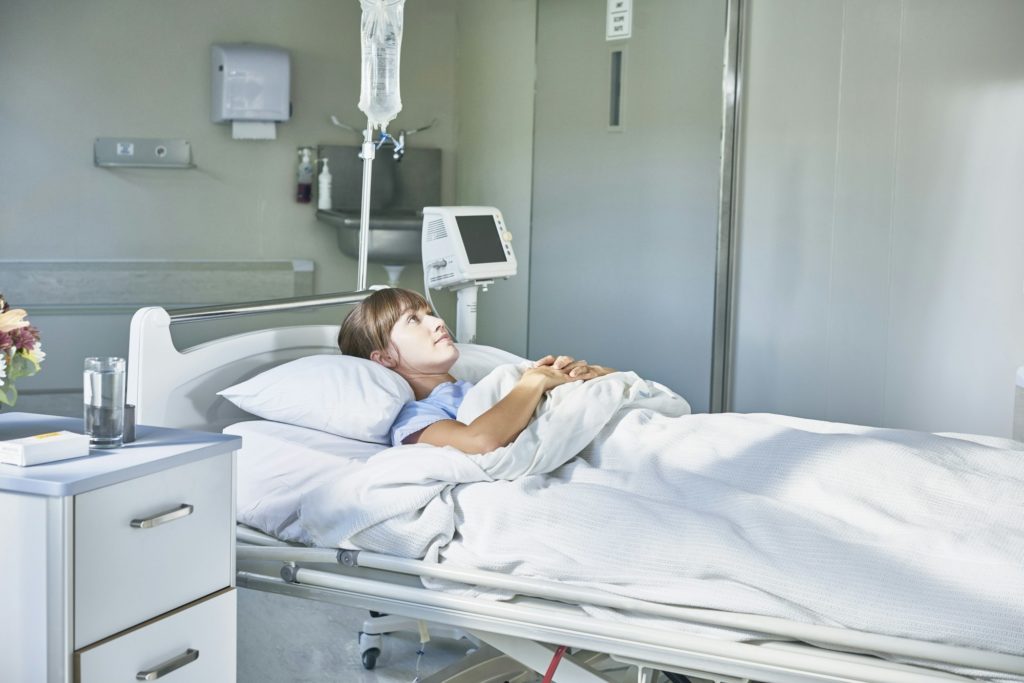
M 236 593 L 230 589 L 76 652 L 76 681 L 233 681 L 234 625 Z

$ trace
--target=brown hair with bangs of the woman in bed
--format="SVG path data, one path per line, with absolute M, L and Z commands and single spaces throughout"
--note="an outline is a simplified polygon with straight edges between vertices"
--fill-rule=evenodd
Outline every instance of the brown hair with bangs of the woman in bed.
M 369 358 L 374 351 L 386 351 L 391 344 L 391 330 L 402 312 L 429 308 L 430 304 L 417 292 L 378 290 L 345 316 L 338 333 L 338 348 L 360 358 Z

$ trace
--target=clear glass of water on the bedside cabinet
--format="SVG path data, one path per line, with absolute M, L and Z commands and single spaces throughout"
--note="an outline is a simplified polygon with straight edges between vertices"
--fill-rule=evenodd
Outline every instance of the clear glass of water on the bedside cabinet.
M 125 429 L 125 359 L 86 358 L 82 398 L 89 445 L 119 447 Z

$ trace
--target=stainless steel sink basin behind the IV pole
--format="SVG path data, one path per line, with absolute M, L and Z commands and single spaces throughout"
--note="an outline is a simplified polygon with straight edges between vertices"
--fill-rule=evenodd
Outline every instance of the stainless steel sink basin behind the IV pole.
M 316 218 L 338 230 L 338 248 L 342 253 L 354 259 L 359 257 L 358 213 L 321 209 Z M 423 214 L 419 212 L 371 211 L 368 260 L 381 265 L 420 263 L 422 227 Z

